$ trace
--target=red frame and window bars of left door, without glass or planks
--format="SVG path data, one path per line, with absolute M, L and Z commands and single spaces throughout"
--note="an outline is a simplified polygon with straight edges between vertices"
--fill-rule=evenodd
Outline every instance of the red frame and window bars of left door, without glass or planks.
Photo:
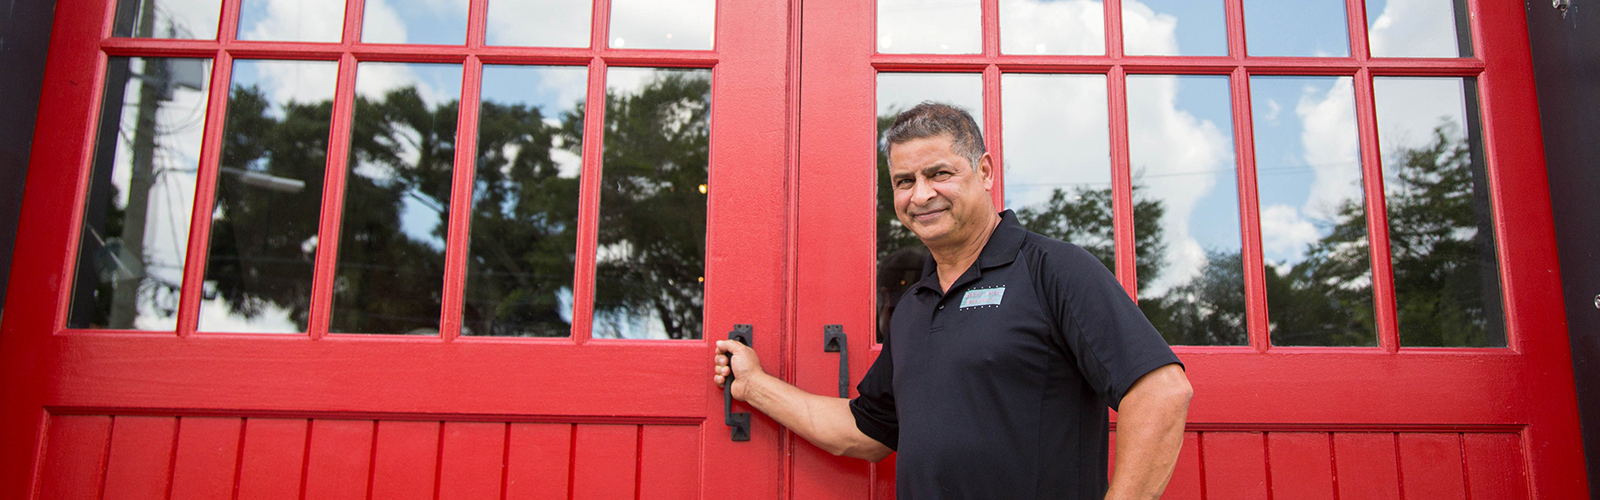
M 0 492 L 37 495 L 53 415 L 219 415 L 699 425 L 701 495 L 771 497 L 778 474 L 710 481 L 718 471 L 781 470 L 771 420 L 757 418 L 749 444 L 728 444 L 722 389 L 710 383 L 710 341 L 733 324 L 755 325 L 755 348 L 787 370 L 779 341 L 789 332 L 794 178 L 790 111 L 795 67 L 790 5 L 720 2 L 710 51 L 613 50 L 610 2 L 594 2 L 594 48 L 510 48 L 483 43 L 486 0 L 472 0 L 466 45 L 360 43 L 362 0 L 349 0 L 344 42 L 234 40 L 238 0 L 222 2 L 218 40 L 110 38 L 115 0 L 61 0 L 19 224 L 8 312 L 0 330 Z M 83 186 L 94 152 L 101 85 L 109 56 L 187 56 L 214 61 L 202 181 L 176 332 L 67 330 Z M 310 332 L 302 335 L 195 333 L 227 88 L 235 58 L 338 61 L 338 98 L 323 196 Z M 477 93 L 483 64 L 589 67 L 589 103 L 603 103 L 608 66 L 714 71 L 712 160 L 707 207 L 706 340 L 590 340 L 600 139 L 584 144 L 578 271 L 571 338 L 458 337 L 470 204 L 453 204 L 446 245 L 442 335 L 435 338 L 328 333 L 342 210 L 344 159 L 358 61 L 456 62 L 464 67 L 453 197 L 470 199 Z M 586 135 L 598 138 L 603 106 L 589 107 Z M 781 152 L 781 154 L 773 154 Z M 776 277 L 776 279 L 774 279 Z M 21 293 L 29 290 L 30 293 Z M 440 370 L 438 367 L 450 367 Z M 595 373 L 600 375 L 595 375 Z M 648 380 L 648 383 L 614 383 Z M 510 389 L 507 389 L 510 388 Z M 538 388 L 517 389 L 517 388 Z M 770 465 L 770 466 L 763 466 Z

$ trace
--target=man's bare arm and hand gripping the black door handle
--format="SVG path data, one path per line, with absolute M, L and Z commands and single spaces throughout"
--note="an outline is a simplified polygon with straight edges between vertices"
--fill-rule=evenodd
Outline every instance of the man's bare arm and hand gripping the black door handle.
M 728 357 L 733 357 L 730 367 Z M 800 438 L 834 455 L 878 462 L 893 450 L 867 438 L 856 428 L 850 412 L 850 399 L 827 397 L 802 391 L 776 377 L 762 372 L 755 351 L 733 340 L 717 341 L 717 367 L 712 380 L 720 386 L 733 370 L 733 399 L 749 402 Z M 1179 439 L 1182 439 L 1179 426 Z

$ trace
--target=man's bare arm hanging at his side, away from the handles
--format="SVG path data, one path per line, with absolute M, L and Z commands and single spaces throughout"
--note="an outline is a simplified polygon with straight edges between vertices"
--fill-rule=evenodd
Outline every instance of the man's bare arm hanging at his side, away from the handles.
M 1117 466 L 1107 500 L 1160 498 L 1184 446 L 1184 420 L 1194 388 L 1184 369 L 1170 364 L 1139 377 L 1117 412 Z

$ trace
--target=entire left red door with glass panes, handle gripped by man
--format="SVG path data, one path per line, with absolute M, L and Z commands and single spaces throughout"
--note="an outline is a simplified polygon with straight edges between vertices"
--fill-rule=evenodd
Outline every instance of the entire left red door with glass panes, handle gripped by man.
M 56 13 L 5 497 L 778 495 L 784 3 Z

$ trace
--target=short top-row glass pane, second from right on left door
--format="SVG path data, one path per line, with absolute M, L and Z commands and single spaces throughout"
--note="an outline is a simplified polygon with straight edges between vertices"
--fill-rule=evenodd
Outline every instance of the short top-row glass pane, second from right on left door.
M 594 2 L 490 0 L 488 45 L 589 46 Z

